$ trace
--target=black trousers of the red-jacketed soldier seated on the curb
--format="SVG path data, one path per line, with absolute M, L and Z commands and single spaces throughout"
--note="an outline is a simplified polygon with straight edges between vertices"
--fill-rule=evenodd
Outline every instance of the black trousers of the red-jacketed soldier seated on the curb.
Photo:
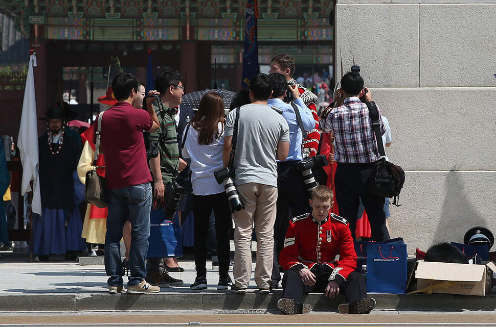
M 328 265 L 314 265 L 311 270 L 315 275 L 315 284 L 313 286 L 304 285 L 298 271 L 287 270 L 284 272 L 282 279 L 282 297 L 301 302 L 303 294 L 324 292 L 329 283 L 328 280 L 332 270 Z M 340 286 L 340 294 L 343 293 L 347 302 L 367 297 L 364 275 L 359 272 L 350 273 L 345 283 Z

